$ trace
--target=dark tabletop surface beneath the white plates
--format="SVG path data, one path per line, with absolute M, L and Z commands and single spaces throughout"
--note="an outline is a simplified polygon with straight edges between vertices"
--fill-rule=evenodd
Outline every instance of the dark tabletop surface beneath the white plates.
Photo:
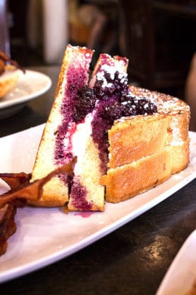
M 1 119 L 0 137 L 47 120 L 58 66 L 34 67 L 52 87 Z M 164 274 L 196 228 L 196 179 L 125 226 L 64 260 L 0 285 L 0 294 L 156 294 Z

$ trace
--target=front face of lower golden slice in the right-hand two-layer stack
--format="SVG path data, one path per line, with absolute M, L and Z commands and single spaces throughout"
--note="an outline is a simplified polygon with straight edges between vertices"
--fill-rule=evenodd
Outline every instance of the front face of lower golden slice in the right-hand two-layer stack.
M 171 176 L 172 159 L 169 147 L 142 157 L 115 169 L 103 176 L 106 186 L 106 201 L 117 203 L 161 184 Z

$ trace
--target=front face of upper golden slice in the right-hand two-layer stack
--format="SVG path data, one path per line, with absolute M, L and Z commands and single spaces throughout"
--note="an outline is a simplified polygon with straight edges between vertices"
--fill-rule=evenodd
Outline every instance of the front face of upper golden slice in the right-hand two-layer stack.
M 156 113 L 115 121 L 113 128 L 108 130 L 108 167 L 125 165 L 163 149 L 168 144 L 171 119 L 171 116 Z

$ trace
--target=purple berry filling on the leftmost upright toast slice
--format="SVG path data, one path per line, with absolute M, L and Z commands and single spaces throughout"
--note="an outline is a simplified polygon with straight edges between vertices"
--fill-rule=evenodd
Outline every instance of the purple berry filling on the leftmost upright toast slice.
M 87 81 L 88 74 L 83 67 L 69 67 L 67 88 L 61 106 L 63 120 L 56 136 L 54 158 L 57 165 L 66 164 L 73 157 L 71 137 L 76 130 L 76 125 L 81 123 L 87 113 L 91 112 L 95 106 L 93 91 L 86 87 Z

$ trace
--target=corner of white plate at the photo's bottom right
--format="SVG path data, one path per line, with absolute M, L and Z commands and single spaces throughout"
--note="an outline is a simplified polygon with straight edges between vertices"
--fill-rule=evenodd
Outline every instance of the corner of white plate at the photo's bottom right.
M 189 235 L 180 248 L 156 295 L 188 295 L 195 285 L 196 230 Z

